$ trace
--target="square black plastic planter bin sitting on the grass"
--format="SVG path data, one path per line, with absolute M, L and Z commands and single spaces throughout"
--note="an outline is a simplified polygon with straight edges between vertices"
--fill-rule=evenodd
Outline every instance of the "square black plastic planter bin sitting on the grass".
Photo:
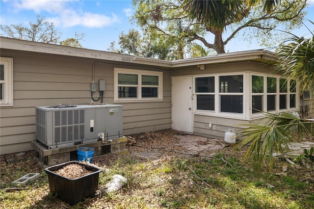
M 69 179 L 52 172 L 70 164 L 83 165 L 87 170 L 94 172 L 76 179 Z M 78 161 L 69 161 L 45 168 L 45 172 L 48 174 L 50 192 L 57 193 L 58 198 L 71 206 L 84 198 L 94 196 L 95 191 L 98 189 L 99 173 L 102 171 L 101 168 Z

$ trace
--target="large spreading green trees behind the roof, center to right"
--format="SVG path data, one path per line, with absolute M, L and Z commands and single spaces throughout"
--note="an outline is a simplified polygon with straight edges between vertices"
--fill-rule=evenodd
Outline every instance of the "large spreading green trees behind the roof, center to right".
M 191 53 L 195 45 L 225 53 L 225 46 L 240 31 L 243 35 L 239 41 L 250 43 L 256 37 L 259 44 L 274 46 L 287 38 L 285 33 L 274 29 L 297 28 L 306 15 L 304 0 L 133 0 L 132 3 L 135 11 L 131 21 L 141 28 L 145 40 L 142 45 L 147 45 L 142 50 L 149 49 L 154 42 L 167 45 L 171 55 L 160 57 L 170 59 L 202 54 Z M 191 15 L 193 11 L 201 12 L 195 17 Z

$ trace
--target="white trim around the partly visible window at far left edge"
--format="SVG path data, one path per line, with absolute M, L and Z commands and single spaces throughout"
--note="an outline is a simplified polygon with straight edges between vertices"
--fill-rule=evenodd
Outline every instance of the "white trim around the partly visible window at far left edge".
M 4 65 L 4 99 L 0 101 L 1 106 L 13 106 L 13 58 L 0 57 L 0 64 Z

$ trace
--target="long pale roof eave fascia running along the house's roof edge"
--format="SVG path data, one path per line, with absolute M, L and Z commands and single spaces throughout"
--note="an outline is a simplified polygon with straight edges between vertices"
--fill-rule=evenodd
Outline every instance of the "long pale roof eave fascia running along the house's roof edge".
M 143 64 L 149 66 L 162 67 L 165 70 L 171 71 L 174 68 L 208 65 L 218 63 L 240 62 L 240 61 L 257 61 L 265 62 L 267 64 L 274 62 L 276 54 L 265 50 L 253 50 L 244 52 L 231 52 L 224 54 L 216 54 L 212 56 L 180 59 L 174 61 L 160 60 L 155 58 L 133 56 L 128 54 L 104 52 L 90 49 L 82 49 L 76 47 L 67 47 L 55 44 L 46 44 L 39 42 L 32 42 L 20 39 L 0 37 L 0 47 L 2 49 L 20 50 L 26 52 L 41 52 L 49 54 L 58 54 L 65 56 L 85 57 L 99 60 L 110 60 L 117 62 L 127 62 L 135 64 Z

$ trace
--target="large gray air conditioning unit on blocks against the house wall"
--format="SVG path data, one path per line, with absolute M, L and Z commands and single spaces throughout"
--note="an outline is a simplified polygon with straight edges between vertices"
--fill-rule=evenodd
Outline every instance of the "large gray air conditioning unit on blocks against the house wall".
M 36 140 L 47 149 L 123 136 L 122 105 L 79 104 L 35 108 Z

